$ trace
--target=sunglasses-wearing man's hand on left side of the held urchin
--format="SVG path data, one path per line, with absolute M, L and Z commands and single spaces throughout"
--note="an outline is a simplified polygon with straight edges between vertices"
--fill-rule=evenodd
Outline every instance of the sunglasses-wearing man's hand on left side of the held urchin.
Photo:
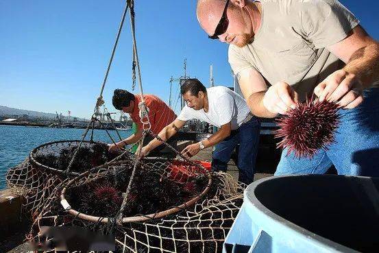
M 297 93 L 286 82 L 277 82 L 271 86 L 263 97 L 263 105 L 269 112 L 286 115 L 290 108 L 295 108 Z

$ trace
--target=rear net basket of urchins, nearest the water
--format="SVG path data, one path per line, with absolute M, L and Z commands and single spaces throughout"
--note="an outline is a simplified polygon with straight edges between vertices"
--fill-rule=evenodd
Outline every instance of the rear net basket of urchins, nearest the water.
M 108 153 L 106 143 L 83 141 L 73 159 L 71 171 L 66 171 L 80 141 L 55 141 L 40 145 L 18 166 L 6 174 L 9 189 L 22 197 L 22 212 L 33 215 L 66 178 L 73 178 L 93 167 L 110 162 L 121 153 Z M 122 154 L 127 158 L 128 155 Z M 65 173 L 64 173 L 65 172 Z

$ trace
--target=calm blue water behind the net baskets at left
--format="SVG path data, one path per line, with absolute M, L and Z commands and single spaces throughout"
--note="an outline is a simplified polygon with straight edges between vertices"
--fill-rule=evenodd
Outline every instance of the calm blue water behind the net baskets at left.
M 50 141 L 80 140 L 84 129 L 72 128 L 27 128 L 24 126 L 0 125 L 0 189 L 5 188 L 5 174 L 10 167 L 22 162 L 34 147 Z M 109 131 L 118 140 L 115 131 Z M 131 131 L 119 131 L 126 138 Z M 87 138 L 90 138 L 90 132 Z M 111 143 L 105 130 L 95 130 L 95 141 Z

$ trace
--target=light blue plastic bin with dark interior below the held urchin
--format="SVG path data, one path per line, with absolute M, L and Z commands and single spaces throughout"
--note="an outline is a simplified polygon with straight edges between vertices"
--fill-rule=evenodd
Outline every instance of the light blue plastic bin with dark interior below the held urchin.
M 379 252 L 379 178 L 258 180 L 245 190 L 223 252 Z

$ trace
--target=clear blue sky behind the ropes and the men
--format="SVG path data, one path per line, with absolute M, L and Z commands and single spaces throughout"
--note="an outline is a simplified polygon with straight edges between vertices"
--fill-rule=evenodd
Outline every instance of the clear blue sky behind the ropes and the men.
M 209 40 L 195 0 L 136 0 L 136 33 L 144 93 L 169 99 L 169 78 L 187 72 L 208 85 L 232 86 L 227 45 Z M 341 1 L 379 39 L 376 1 Z M 362 4 L 364 3 L 364 4 Z M 89 118 L 100 92 L 125 2 L 0 0 L 0 105 Z M 129 16 L 104 91 L 131 89 Z M 138 88 L 134 93 L 138 93 Z M 173 93 L 178 94 L 178 86 Z M 175 104 L 175 101 L 173 101 Z M 179 105 L 178 105 L 179 107 Z

